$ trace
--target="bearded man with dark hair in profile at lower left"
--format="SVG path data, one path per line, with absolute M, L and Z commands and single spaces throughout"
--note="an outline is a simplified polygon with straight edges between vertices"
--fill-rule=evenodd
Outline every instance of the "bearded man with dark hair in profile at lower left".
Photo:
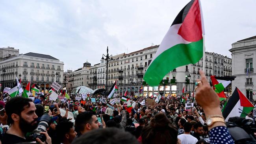
M 7 123 L 10 129 L 2 138 L 3 144 L 26 142 L 25 135 L 37 128 L 35 104 L 31 99 L 15 97 L 6 103 Z

